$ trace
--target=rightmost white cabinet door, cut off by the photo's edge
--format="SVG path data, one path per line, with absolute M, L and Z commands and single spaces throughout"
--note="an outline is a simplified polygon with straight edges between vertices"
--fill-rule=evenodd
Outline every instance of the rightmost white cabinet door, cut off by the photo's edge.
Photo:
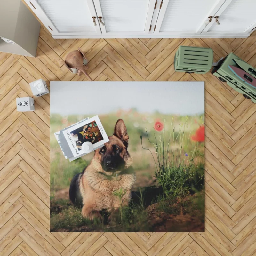
M 227 35 L 227 33 L 251 33 L 256 28 L 256 0 L 227 0 L 214 14 L 214 20 L 203 33 Z

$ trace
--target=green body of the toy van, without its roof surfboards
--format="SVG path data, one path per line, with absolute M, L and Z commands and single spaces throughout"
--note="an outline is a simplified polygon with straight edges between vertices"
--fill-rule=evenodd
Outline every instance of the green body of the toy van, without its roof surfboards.
M 230 87 L 242 93 L 245 98 L 251 99 L 252 102 L 256 103 L 256 88 L 244 83 L 228 68 L 228 65 L 238 67 L 233 59 L 242 60 L 234 53 L 229 53 L 224 59 L 218 61 L 217 67 L 212 69 L 212 74 L 217 76 L 220 81 L 227 82 Z

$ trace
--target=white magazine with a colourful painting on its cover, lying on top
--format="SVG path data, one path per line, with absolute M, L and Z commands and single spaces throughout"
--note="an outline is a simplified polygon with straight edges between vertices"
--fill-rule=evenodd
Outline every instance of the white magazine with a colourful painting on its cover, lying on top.
M 109 141 L 98 116 L 93 116 L 84 122 L 71 126 L 62 133 L 74 157 L 84 154 L 82 150 L 84 142 L 91 142 L 93 150 L 95 150 Z

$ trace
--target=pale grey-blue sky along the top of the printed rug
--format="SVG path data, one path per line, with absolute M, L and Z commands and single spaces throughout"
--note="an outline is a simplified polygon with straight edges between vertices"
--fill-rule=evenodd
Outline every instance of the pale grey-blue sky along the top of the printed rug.
M 100 115 L 118 109 L 194 115 L 204 112 L 204 82 L 51 82 L 51 114 Z

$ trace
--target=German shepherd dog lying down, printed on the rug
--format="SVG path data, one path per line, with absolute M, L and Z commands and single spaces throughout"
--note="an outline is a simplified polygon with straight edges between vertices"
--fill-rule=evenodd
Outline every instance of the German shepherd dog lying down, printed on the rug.
M 82 215 L 93 220 L 101 218 L 100 211 L 105 209 L 111 214 L 108 222 L 115 219 L 119 212 L 120 200 L 113 194 L 122 188 L 123 203 L 128 205 L 131 188 L 135 183 L 132 172 L 132 157 L 127 151 L 127 129 L 122 119 L 117 120 L 114 133 L 109 142 L 95 150 L 90 164 L 83 172 L 76 174 L 70 184 L 69 198 L 75 206 L 82 206 Z

